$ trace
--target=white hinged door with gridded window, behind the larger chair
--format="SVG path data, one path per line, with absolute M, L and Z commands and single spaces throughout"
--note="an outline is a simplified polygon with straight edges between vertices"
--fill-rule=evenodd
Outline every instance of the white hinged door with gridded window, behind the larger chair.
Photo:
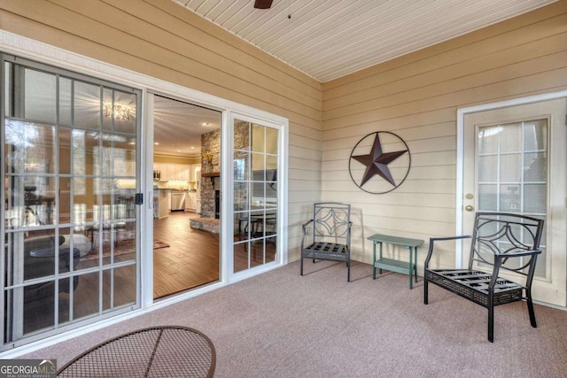
M 477 211 L 515 212 L 546 220 L 532 295 L 566 305 L 565 97 L 464 117 L 462 226 L 473 228 Z M 463 245 L 463 264 L 470 243 Z M 518 279 L 518 277 L 510 277 Z

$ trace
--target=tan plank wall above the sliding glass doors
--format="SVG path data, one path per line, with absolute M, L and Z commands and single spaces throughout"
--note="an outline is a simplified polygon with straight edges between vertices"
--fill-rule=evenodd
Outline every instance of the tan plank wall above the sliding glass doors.
M 299 224 L 321 196 L 321 83 L 170 0 L 4 0 L 0 27 L 288 118 L 297 250 Z

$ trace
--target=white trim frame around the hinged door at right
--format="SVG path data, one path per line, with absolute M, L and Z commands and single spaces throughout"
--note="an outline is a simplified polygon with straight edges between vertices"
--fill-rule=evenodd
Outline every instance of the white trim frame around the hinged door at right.
M 463 216 L 463 181 L 464 181 L 464 117 L 466 114 L 474 112 L 485 112 L 509 106 L 517 106 L 524 104 L 539 103 L 542 101 L 554 100 L 556 98 L 566 97 L 567 90 L 560 92 L 551 92 L 535 96 L 527 96 L 522 98 L 515 98 L 513 100 L 501 101 L 491 104 L 480 104 L 466 108 L 457 109 L 457 180 L 456 180 L 456 219 L 455 219 L 455 232 L 456 235 L 463 235 L 465 230 L 462 229 L 462 216 Z M 467 230 L 468 231 L 468 230 Z M 462 241 L 456 243 L 456 255 L 454 257 L 455 268 L 462 268 L 466 263 L 463 259 L 464 251 L 462 251 Z

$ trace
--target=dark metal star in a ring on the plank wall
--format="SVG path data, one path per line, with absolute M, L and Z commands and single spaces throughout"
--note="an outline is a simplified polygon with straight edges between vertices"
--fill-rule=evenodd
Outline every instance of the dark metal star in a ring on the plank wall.
M 372 147 L 370 147 L 369 153 L 362 154 L 368 150 L 368 147 L 364 146 L 368 145 L 370 141 L 372 141 Z M 392 151 L 384 152 L 384 150 Z M 397 160 L 396 174 L 392 175 L 388 165 L 394 160 Z M 406 180 L 410 166 L 411 155 L 408 144 L 400 136 L 389 131 L 377 131 L 364 136 L 354 145 L 348 161 L 348 172 L 353 182 L 360 189 L 372 194 L 384 194 L 398 188 Z M 384 180 L 381 182 L 371 180 L 376 175 L 382 177 L 388 184 Z M 397 180 L 394 179 L 394 176 Z M 362 188 L 363 186 L 364 188 Z

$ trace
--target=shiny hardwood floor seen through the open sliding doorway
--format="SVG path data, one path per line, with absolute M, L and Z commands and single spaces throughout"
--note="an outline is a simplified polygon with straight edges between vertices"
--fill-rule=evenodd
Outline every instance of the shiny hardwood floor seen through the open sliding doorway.
M 168 243 L 153 251 L 153 297 L 166 297 L 219 280 L 219 235 L 190 228 L 194 212 L 170 212 L 153 221 L 153 239 Z

